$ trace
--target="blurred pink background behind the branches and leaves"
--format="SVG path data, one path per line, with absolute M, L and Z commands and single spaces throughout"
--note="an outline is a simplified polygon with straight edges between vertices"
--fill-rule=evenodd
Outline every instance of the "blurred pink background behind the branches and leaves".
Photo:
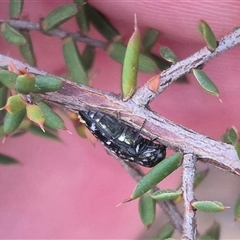
M 25 1 L 23 16 L 38 21 L 54 8 L 68 1 Z M 138 17 L 142 33 L 147 27 L 161 32 L 154 48 L 169 46 L 184 59 L 195 53 L 204 42 L 199 36 L 197 22 L 207 21 L 218 38 L 239 26 L 240 5 L 231 2 L 175 1 L 89 1 L 102 11 L 122 33 L 125 40 L 133 31 L 133 14 Z M 8 2 L 2 2 L 0 18 L 8 18 Z M 73 20 L 63 28 L 74 31 Z M 102 39 L 95 31 L 93 37 Z M 38 67 L 52 74 L 66 72 L 61 53 L 61 40 L 32 32 Z M 79 44 L 80 48 L 83 45 Z M 0 38 L 2 54 L 23 61 L 16 46 Z M 239 55 L 236 47 L 207 63 L 204 70 L 216 83 L 223 103 L 205 93 L 191 75 L 190 84 L 173 84 L 152 103 L 159 114 L 220 139 L 226 128 L 239 123 Z M 93 68 L 94 87 L 119 93 L 121 65 L 102 50 L 97 50 Z M 152 75 L 139 74 L 139 87 Z M 134 180 L 120 164 L 103 149 L 75 133 L 60 132 L 63 143 L 46 141 L 27 134 L 9 138 L 0 145 L 0 152 L 19 159 L 21 165 L 0 166 L 0 238 L 78 238 L 78 239 L 139 239 L 151 236 L 151 229 L 141 224 L 137 201 L 116 207 L 129 197 Z M 207 166 L 198 165 L 198 169 Z M 160 187 L 178 186 L 181 171 L 164 180 Z M 198 199 L 219 200 L 231 206 L 221 214 L 198 213 L 199 232 L 203 233 L 213 219 L 223 223 L 222 238 L 239 236 L 239 223 L 233 221 L 234 200 L 239 194 L 239 178 L 211 168 L 208 179 L 196 192 Z M 225 190 L 226 189 L 226 190 Z M 160 213 L 161 222 L 167 217 Z M 157 223 L 157 226 L 161 223 Z M 156 226 L 155 226 L 156 227 Z M 153 226 L 154 228 L 154 226 Z M 149 234 L 149 235 L 147 235 Z M 178 236 L 178 235 L 176 235 Z

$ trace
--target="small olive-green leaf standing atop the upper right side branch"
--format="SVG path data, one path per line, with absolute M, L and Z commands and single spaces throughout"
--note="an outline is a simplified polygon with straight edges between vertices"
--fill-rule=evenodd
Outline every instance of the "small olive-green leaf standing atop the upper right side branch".
M 210 26 L 205 21 L 201 20 L 198 23 L 198 29 L 203 36 L 208 49 L 214 51 L 217 48 L 217 40 Z

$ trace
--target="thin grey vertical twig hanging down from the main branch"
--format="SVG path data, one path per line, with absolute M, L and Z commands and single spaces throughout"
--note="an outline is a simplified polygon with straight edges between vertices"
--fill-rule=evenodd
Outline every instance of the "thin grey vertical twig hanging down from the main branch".
M 184 200 L 183 238 L 189 240 L 196 239 L 197 235 L 196 211 L 191 205 L 195 200 L 194 177 L 196 173 L 196 161 L 197 158 L 193 154 L 184 154 L 182 174 L 182 191 Z

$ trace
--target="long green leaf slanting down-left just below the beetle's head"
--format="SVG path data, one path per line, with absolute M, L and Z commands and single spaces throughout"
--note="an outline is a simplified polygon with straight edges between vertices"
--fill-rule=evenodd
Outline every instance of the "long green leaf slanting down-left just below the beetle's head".
M 158 163 L 150 172 L 148 172 L 136 185 L 133 190 L 130 200 L 136 199 L 156 186 L 169 174 L 175 171 L 182 164 L 182 154 L 175 153 L 174 155 L 165 158 Z

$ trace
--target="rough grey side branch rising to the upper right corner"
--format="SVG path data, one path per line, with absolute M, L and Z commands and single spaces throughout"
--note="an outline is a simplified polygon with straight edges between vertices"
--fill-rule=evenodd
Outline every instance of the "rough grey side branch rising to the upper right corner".
M 237 46 L 238 44 L 240 44 L 240 29 L 237 29 L 229 35 L 221 38 L 218 47 L 214 52 L 209 51 L 207 47 L 205 47 L 189 58 L 177 62 L 167 70 L 163 71 L 160 74 L 161 84 L 157 93 L 150 91 L 147 84 L 145 84 L 134 94 L 132 100 L 140 106 L 145 106 L 146 103 L 152 101 L 179 77 L 189 73 L 194 68 L 198 68 L 202 64 L 208 62 L 214 57 L 217 57 L 226 50 Z

